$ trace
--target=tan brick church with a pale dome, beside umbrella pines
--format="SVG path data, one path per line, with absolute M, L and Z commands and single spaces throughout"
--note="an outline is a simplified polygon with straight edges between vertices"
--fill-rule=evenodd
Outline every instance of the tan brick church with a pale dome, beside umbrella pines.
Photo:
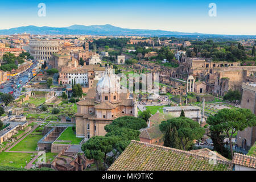
M 122 93 L 120 78 L 113 74 L 112 67 L 105 68 L 104 76 L 98 81 L 96 90 L 87 94 L 85 100 L 77 102 L 76 137 L 104 136 L 104 126 L 116 118 L 126 115 L 137 117 L 136 98 Z

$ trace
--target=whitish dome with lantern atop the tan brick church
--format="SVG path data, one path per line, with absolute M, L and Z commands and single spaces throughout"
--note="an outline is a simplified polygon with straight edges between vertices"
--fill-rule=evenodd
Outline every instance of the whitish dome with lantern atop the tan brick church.
M 112 73 L 112 68 L 106 67 L 104 76 L 98 81 L 97 91 L 100 93 L 118 92 L 120 89 L 119 77 Z

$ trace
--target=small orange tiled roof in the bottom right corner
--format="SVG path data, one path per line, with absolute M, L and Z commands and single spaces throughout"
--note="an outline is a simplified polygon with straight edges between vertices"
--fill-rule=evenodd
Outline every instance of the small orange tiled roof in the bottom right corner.
M 240 166 L 256 168 L 256 158 L 249 155 L 234 153 L 232 163 Z

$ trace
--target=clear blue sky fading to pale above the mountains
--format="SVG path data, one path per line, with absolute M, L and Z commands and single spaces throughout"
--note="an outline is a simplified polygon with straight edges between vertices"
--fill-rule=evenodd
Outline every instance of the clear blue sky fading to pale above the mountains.
M 46 4 L 46 17 L 38 16 L 39 3 Z M 209 3 L 216 3 L 216 17 L 208 15 Z M 0 29 L 112 24 L 122 28 L 256 35 L 256 1 L 5 1 L 1 2 L 0 20 Z

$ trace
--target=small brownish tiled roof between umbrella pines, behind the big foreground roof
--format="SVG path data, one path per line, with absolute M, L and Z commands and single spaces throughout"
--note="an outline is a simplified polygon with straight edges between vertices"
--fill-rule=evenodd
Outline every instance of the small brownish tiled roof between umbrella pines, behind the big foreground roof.
M 159 137 L 163 137 L 163 133 L 159 129 L 159 125 L 148 127 L 146 129 L 141 130 L 141 134 L 139 138 L 146 138 L 146 139 L 156 139 Z

